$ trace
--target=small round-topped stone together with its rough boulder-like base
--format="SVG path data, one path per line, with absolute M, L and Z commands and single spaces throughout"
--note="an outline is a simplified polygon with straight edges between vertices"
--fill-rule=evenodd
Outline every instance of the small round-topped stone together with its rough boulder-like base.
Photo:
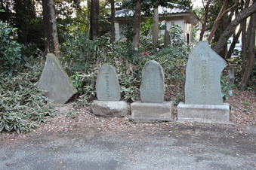
M 97 99 L 91 104 L 92 112 L 99 116 L 124 117 L 128 104 L 121 98 L 116 68 L 104 64 L 98 68 L 96 80 Z

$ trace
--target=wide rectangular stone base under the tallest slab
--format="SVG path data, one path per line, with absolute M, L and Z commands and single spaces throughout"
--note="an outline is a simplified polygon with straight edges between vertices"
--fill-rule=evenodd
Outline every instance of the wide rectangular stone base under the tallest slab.
M 177 105 L 177 121 L 199 123 L 230 123 L 230 105 L 193 105 L 180 102 Z

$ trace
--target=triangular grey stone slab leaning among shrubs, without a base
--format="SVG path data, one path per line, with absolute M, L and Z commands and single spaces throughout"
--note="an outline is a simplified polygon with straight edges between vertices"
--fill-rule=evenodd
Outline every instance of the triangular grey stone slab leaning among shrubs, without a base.
M 45 67 L 37 88 L 44 90 L 45 96 L 53 100 L 54 104 L 64 104 L 77 93 L 72 80 L 64 71 L 60 60 L 53 53 L 48 53 L 46 56 Z

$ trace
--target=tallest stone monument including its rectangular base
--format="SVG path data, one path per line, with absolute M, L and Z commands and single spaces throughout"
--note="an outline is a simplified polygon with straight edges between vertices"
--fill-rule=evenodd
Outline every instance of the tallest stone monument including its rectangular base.
M 227 62 L 199 41 L 186 68 L 185 102 L 177 106 L 179 122 L 229 123 L 230 107 L 221 95 L 221 72 Z

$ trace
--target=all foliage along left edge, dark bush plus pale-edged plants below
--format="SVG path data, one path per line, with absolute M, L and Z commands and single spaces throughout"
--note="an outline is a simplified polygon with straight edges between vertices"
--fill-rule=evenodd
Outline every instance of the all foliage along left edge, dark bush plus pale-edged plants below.
M 35 129 L 55 111 L 35 87 L 45 60 L 30 56 L 32 50 L 17 43 L 14 31 L 0 22 L 0 132 L 20 133 Z

